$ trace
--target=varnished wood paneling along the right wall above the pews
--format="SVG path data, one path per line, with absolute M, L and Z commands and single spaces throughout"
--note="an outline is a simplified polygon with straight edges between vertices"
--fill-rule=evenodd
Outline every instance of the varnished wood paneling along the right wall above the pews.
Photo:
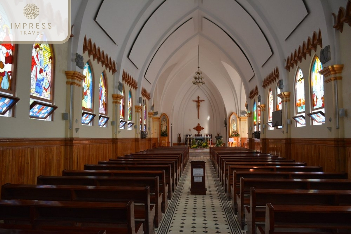
M 322 166 L 325 172 L 347 172 L 351 179 L 351 139 L 263 138 L 249 139 L 249 146 L 309 166 Z

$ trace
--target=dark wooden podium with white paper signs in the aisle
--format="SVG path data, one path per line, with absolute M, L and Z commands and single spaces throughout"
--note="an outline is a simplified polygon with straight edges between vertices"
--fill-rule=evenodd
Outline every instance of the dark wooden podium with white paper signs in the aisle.
M 206 195 L 205 161 L 193 160 L 191 164 L 191 188 L 190 194 Z

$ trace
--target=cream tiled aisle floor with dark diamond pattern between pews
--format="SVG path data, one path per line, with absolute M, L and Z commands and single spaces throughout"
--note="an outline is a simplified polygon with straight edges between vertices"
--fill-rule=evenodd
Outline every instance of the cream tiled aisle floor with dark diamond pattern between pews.
M 243 233 L 209 156 L 190 156 L 191 160 L 206 161 L 206 195 L 190 194 L 191 174 L 188 163 L 156 233 Z

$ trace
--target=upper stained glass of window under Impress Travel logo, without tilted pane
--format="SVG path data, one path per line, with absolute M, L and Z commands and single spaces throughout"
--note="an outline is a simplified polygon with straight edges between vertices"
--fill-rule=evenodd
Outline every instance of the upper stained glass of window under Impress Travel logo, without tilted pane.
M 49 44 L 33 44 L 31 98 L 52 100 L 53 55 Z

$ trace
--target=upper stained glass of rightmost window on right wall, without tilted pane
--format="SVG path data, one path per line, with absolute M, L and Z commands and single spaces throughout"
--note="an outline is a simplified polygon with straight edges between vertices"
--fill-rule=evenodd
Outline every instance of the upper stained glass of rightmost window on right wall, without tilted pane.
M 324 107 L 324 87 L 323 87 L 323 75 L 319 74 L 322 70 L 322 63 L 316 56 L 312 65 L 311 71 L 311 100 L 312 109 L 318 109 Z

